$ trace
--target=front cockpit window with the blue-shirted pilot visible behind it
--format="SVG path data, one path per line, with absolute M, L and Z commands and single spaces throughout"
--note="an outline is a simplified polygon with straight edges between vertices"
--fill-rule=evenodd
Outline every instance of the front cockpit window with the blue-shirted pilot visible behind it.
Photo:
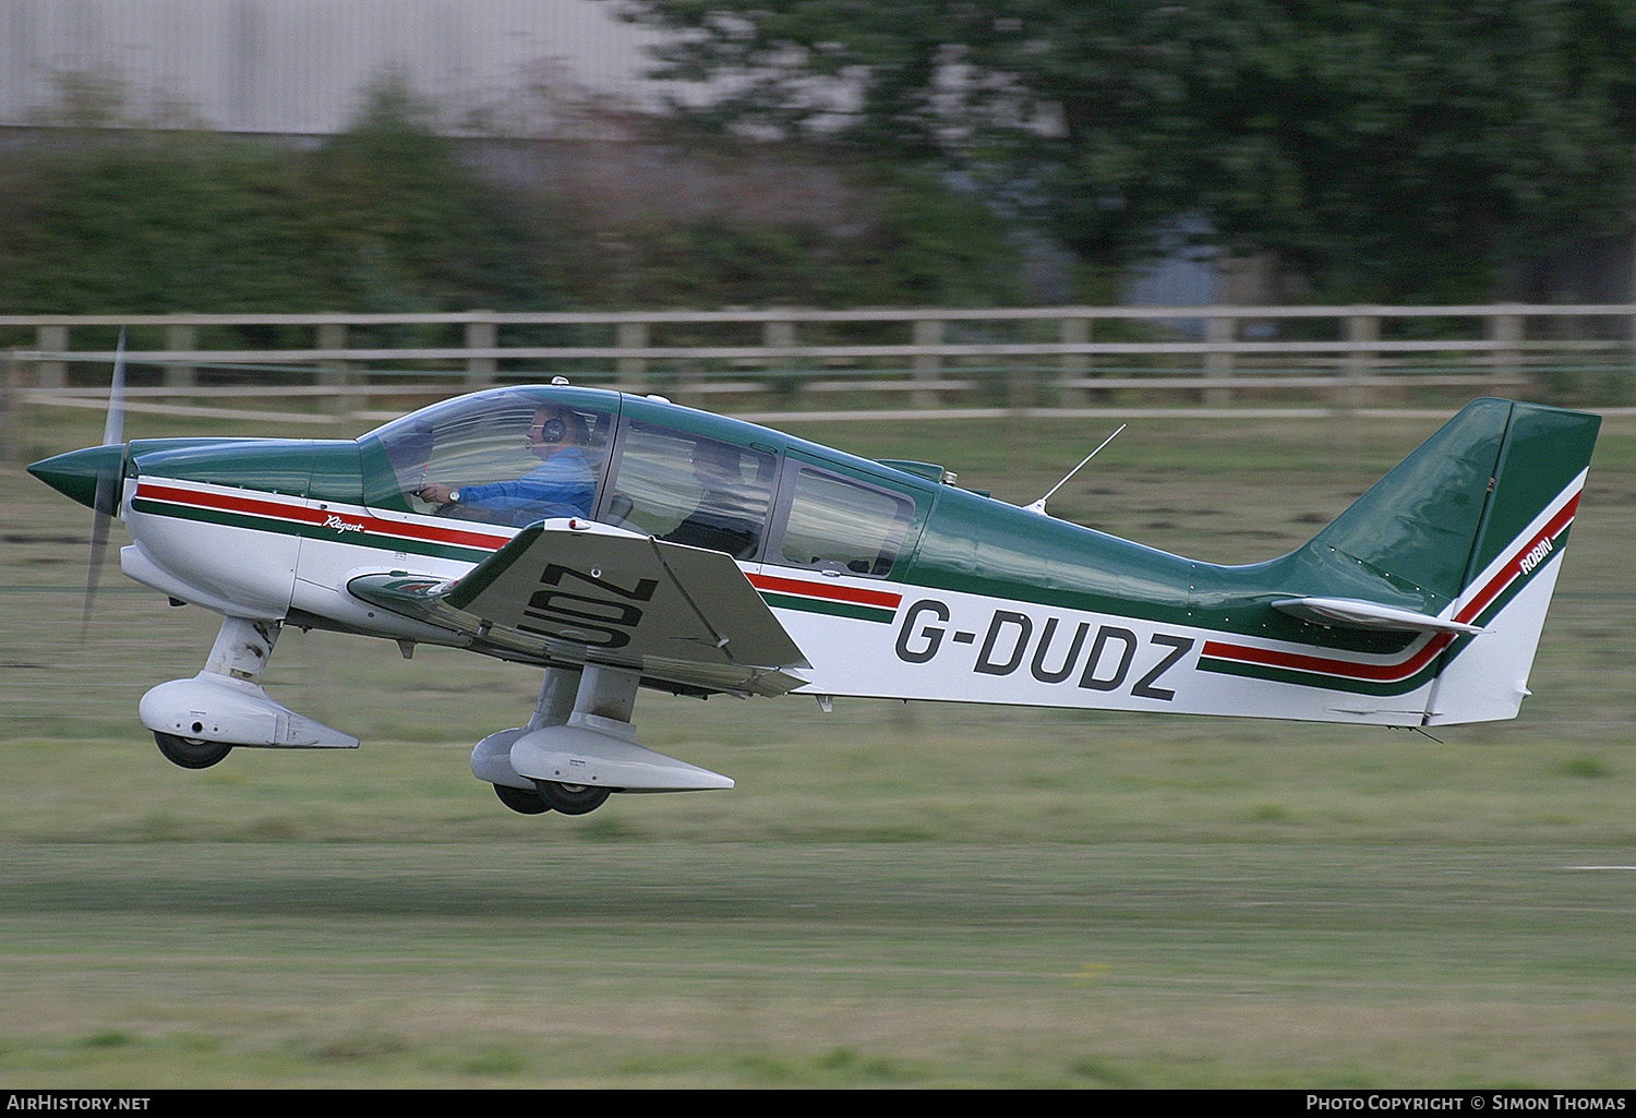
M 591 516 L 615 409 L 551 390 L 496 390 L 406 416 L 373 435 L 391 476 L 370 504 L 522 527 Z M 371 457 L 366 452 L 366 458 Z

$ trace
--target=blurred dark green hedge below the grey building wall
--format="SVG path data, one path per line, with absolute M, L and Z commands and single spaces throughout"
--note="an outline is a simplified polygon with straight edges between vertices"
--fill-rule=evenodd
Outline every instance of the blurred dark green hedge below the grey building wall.
M 1001 224 L 934 180 L 849 172 L 864 182 L 846 221 L 684 213 L 582 221 L 550 193 L 486 182 L 396 80 L 373 88 L 352 126 L 312 151 L 201 131 L 70 136 L 77 142 L 33 151 L 0 183 L 7 313 L 1018 298 Z

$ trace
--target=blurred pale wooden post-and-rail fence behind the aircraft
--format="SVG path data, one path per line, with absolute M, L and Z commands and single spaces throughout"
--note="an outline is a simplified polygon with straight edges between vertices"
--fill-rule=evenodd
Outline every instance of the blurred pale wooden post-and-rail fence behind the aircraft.
M 551 375 L 784 417 L 1611 406 L 1636 365 L 1636 304 L 0 316 L 10 422 L 103 406 L 119 331 L 133 411 L 312 424 Z

